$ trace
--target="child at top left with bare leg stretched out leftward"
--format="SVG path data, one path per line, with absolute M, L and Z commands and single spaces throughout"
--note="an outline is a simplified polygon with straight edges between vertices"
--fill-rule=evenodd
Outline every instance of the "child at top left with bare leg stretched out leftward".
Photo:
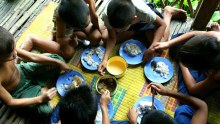
M 69 60 L 78 45 L 77 37 L 89 40 L 91 45 L 97 45 L 102 39 L 101 31 L 104 30 L 98 25 L 94 0 L 62 0 L 54 13 L 52 40 L 56 42 L 29 36 L 22 48 L 30 51 L 33 47 L 38 47 Z

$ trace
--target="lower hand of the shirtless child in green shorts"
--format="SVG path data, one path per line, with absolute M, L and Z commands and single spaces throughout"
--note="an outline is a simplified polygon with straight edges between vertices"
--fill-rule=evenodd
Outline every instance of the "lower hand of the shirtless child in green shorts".
M 47 92 L 42 94 L 42 102 L 47 102 L 52 100 L 52 98 L 56 95 L 57 89 L 55 87 L 49 89 Z

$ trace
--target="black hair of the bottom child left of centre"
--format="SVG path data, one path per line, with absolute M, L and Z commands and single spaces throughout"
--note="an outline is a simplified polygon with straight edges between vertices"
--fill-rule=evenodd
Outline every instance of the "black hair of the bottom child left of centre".
M 62 124 L 93 124 L 98 103 L 95 93 L 86 85 L 71 89 L 61 99 L 59 116 Z

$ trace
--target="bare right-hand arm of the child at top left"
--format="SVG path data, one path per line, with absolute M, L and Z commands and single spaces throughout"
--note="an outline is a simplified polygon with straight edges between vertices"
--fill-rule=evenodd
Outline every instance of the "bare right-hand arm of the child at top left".
M 93 26 L 100 31 L 98 15 L 96 14 L 96 10 L 95 10 L 95 1 L 94 0 L 87 0 L 87 3 L 89 4 L 91 22 L 92 22 Z

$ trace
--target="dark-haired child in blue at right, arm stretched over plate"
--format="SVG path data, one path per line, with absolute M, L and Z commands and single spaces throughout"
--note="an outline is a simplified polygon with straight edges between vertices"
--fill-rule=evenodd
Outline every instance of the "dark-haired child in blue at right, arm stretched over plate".
M 201 95 L 219 88 L 220 33 L 192 31 L 168 42 L 157 43 L 154 49 L 163 50 L 180 43 L 185 44 L 176 54 L 182 72 L 178 78 L 178 92 Z

